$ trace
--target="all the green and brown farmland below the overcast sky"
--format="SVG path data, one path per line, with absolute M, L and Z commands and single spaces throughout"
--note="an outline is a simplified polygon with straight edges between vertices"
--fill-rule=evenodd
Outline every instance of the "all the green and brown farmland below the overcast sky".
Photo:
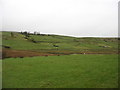
M 2 32 L 2 86 L 117 88 L 118 42 L 118 38 Z

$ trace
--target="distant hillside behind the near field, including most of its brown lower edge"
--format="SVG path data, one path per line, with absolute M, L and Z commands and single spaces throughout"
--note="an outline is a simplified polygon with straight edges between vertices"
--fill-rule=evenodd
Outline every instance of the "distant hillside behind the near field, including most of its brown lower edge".
M 27 35 L 19 32 L 2 32 L 2 38 L 3 51 L 7 56 L 11 52 L 21 54 L 19 50 L 23 50 L 23 52 L 24 50 L 31 51 L 34 55 L 36 53 L 41 53 L 41 55 L 117 53 L 118 51 L 117 38 L 76 38 L 47 34 Z

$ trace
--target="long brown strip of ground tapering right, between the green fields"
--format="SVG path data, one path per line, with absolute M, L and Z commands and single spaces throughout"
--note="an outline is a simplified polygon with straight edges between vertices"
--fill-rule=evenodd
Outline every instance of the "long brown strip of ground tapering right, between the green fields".
M 73 52 L 73 51 L 29 51 L 29 50 L 12 50 L 12 49 L 2 49 L 2 57 L 0 58 L 16 58 L 16 57 L 33 57 L 33 56 L 53 56 L 53 55 L 70 55 L 70 54 L 118 54 L 118 52 Z

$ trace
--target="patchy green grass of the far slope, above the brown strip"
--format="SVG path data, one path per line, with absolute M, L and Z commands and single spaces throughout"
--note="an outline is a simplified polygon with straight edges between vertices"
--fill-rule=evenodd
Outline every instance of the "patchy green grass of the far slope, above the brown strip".
M 2 32 L 3 45 L 10 46 L 12 49 L 16 50 L 41 50 L 41 49 L 56 49 L 53 45 L 58 45 L 59 50 L 83 50 L 88 49 L 97 50 L 101 49 L 107 51 L 108 49 L 113 52 L 118 49 L 117 38 L 75 38 L 68 36 L 59 35 L 30 35 L 29 39 L 34 39 L 38 43 L 33 43 L 25 39 L 24 35 L 13 32 L 14 37 L 11 36 L 10 32 Z M 106 48 L 101 46 L 108 46 Z

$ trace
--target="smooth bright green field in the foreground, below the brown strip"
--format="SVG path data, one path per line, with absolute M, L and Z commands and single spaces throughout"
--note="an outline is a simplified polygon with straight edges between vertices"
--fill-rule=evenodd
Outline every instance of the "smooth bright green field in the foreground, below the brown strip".
M 3 88 L 117 88 L 118 55 L 3 60 Z

